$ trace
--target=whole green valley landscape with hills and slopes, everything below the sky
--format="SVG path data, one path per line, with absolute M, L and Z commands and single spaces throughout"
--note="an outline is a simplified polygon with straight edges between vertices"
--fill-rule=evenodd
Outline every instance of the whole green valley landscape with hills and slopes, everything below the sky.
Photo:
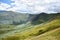
M 0 12 L 0 40 L 59 40 L 60 13 Z

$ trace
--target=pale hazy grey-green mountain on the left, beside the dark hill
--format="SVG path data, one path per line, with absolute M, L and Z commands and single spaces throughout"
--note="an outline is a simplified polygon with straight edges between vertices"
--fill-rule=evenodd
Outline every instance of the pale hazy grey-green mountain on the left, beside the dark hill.
M 22 24 L 28 20 L 29 14 L 12 11 L 0 11 L 0 24 Z

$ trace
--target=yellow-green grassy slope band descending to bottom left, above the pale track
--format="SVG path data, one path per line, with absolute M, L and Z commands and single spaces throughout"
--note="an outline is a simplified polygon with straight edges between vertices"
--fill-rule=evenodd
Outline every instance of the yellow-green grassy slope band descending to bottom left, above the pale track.
M 5 35 L 5 37 L 3 38 L 0 37 L 0 40 L 24 40 L 24 39 L 29 40 L 30 38 L 42 35 L 46 32 L 52 31 L 57 28 L 60 28 L 60 19 L 55 19 L 51 22 L 32 26 L 32 28 L 27 28 L 24 31 L 15 33 L 13 35 L 10 34 L 10 36 Z

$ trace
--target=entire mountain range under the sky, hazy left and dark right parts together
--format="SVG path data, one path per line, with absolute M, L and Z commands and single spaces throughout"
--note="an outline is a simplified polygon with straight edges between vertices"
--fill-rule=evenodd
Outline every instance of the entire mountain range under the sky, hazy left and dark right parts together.
M 0 24 L 23 24 L 30 21 L 33 25 L 41 24 L 50 20 L 53 20 L 55 17 L 59 16 L 60 13 L 55 14 L 28 14 L 28 13 L 18 13 L 12 11 L 0 11 Z

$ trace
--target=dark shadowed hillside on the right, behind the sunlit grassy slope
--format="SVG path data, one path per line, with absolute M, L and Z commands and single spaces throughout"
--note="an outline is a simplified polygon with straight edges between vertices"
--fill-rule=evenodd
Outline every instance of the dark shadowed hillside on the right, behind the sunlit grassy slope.
M 56 14 L 47 14 L 47 13 L 40 13 L 40 14 L 30 14 L 30 21 L 33 25 L 41 24 L 47 21 L 52 21 L 53 19 L 59 17 L 60 13 Z

